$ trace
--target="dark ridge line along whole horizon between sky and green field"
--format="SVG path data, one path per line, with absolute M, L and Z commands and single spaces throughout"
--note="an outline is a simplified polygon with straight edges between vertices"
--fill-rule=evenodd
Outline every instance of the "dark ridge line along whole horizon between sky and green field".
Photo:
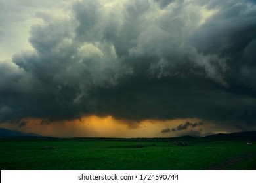
M 130 141 L 130 142 L 200 142 L 200 141 L 256 141 L 256 131 L 238 133 L 218 133 L 206 137 L 193 137 L 189 135 L 181 137 L 152 137 L 152 138 L 117 138 L 117 137 L 45 137 L 35 133 L 24 133 L 0 128 L 1 141 Z

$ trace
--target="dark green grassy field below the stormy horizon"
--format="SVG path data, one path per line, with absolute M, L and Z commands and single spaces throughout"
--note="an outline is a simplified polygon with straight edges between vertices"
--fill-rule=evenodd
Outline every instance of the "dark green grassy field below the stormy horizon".
M 141 140 L 141 141 L 140 141 Z M 0 141 L 3 169 L 256 169 L 256 144 L 244 141 Z M 143 144 L 138 147 L 137 144 Z M 42 149 L 51 146 L 53 149 Z

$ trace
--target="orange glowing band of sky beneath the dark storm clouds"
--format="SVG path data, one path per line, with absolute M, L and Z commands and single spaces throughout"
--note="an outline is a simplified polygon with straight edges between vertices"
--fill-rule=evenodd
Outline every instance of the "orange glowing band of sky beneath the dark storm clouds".
M 198 118 L 182 118 L 175 120 L 142 120 L 134 122 L 129 120 L 118 120 L 113 116 L 99 117 L 95 115 L 83 116 L 77 120 L 64 120 L 42 123 L 40 118 L 24 118 L 20 122 L 1 123 L 0 127 L 23 131 L 26 133 L 37 133 L 51 137 L 176 137 L 193 133 L 207 133 L 215 128 L 219 133 L 223 130 L 215 127 L 210 122 L 203 122 L 203 125 L 188 128 L 181 131 L 171 131 L 180 124 L 186 122 L 198 123 Z M 23 125 L 20 123 L 23 122 Z M 165 133 L 163 129 L 170 129 Z M 211 130 L 210 130 L 211 129 Z

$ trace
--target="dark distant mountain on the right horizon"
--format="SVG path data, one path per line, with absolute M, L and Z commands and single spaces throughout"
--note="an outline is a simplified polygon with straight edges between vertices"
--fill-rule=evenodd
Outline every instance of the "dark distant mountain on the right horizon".
M 238 132 L 238 133 L 218 133 L 218 134 L 209 135 L 203 138 L 215 139 L 215 140 L 221 140 L 221 141 L 229 141 L 229 140 L 256 141 L 256 131 L 245 131 L 245 132 Z

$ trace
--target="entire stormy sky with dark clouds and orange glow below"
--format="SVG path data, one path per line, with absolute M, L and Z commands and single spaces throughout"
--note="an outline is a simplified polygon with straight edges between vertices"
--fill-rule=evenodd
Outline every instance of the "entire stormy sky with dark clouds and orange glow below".
M 0 0 L 0 127 L 256 131 L 256 1 Z

